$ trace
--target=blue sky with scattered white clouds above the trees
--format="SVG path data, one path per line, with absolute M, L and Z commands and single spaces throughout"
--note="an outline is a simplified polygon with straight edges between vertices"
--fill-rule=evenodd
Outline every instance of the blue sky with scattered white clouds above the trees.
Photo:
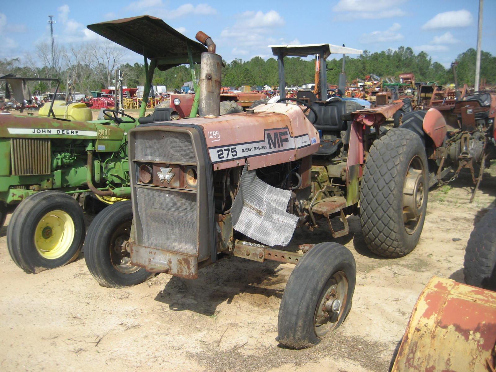
M 269 58 L 271 44 L 330 43 L 371 52 L 409 46 L 449 66 L 459 53 L 476 47 L 478 4 L 478 0 L 15 1 L 0 10 L 0 59 L 22 60 L 38 43 L 49 43 L 48 14 L 55 15 L 59 45 L 100 43 L 87 24 L 150 14 L 192 39 L 204 31 L 226 61 Z M 496 1 L 485 0 L 482 48 L 493 55 L 495 15 Z M 133 53 L 124 59 L 142 62 Z

